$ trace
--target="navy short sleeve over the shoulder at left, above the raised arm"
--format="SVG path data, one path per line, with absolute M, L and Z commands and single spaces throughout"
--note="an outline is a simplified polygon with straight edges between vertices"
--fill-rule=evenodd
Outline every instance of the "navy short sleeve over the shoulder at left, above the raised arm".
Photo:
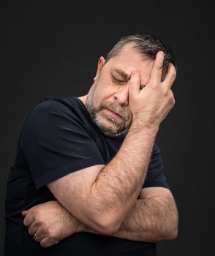
M 104 165 L 75 109 L 53 99 L 40 102 L 24 124 L 20 143 L 35 187 L 92 165 Z

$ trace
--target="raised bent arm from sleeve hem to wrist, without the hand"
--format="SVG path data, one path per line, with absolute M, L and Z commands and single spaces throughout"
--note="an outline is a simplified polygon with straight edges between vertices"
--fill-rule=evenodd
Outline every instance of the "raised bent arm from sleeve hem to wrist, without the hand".
M 130 129 L 116 157 L 48 184 L 59 202 L 99 233 L 116 233 L 133 208 L 146 177 L 156 130 Z

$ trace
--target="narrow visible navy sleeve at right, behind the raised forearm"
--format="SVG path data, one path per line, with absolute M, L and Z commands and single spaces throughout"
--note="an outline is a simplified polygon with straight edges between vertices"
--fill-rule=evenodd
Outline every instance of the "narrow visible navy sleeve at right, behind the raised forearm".
M 167 178 L 164 175 L 162 157 L 156 143 L 151 154 L 151 162 L 148 165 L 148 172 L 143 187 L 165 187 L 169 189 Z

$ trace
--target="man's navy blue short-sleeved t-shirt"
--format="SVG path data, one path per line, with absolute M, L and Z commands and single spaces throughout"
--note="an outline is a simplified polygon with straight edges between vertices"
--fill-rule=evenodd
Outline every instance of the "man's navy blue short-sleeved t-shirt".
M 92 165 L 107 165 L 125 135 L 110 138 L 95 126 L 76 97 L 42 99 L 29 114 L 18 140 L 7 181 L 5 256 L 12 255 L 156 255 L 154 243 L 92 233 L 75 233 L 48 249 L 23 225 L 21 212 L 55 200 L 46 184 Z M 166 187 L 159 148 L 154 144 L 143 187 Z

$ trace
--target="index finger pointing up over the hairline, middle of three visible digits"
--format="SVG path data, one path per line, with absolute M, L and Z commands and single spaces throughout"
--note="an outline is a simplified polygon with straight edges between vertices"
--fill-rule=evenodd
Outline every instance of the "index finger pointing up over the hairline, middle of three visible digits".
M 151 69 L 150 79 L 148 81 L 149 86 L 154 86 L 156 83 L 161 82 L 162 80 L 162 65 L 164 62 L 165 53 L 162 50 L 159 50 L 156 53 L 156 58 L 154 60 L 153 67 Z

